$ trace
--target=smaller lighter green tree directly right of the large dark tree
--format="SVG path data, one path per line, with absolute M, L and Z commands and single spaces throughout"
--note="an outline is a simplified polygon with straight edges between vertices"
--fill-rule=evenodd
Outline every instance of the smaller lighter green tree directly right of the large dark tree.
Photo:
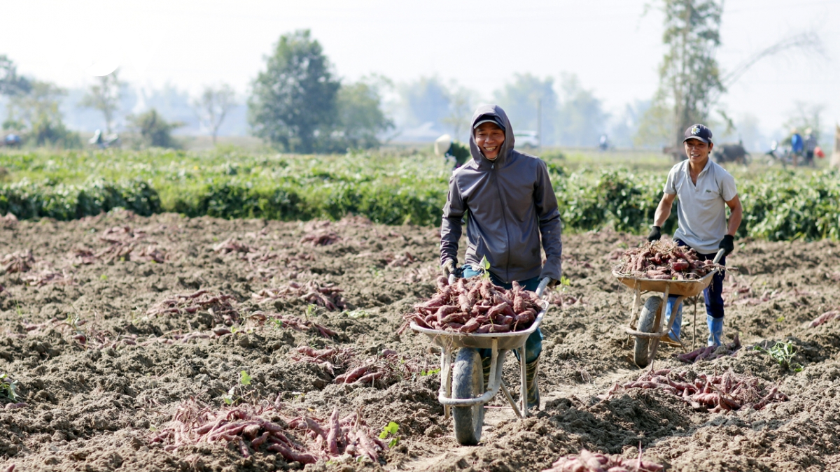
M 339 89 L 339 131 L 345 147 L 376 147 L 380 144 L 378 135 L 394 127 L 382 111 L 381 102 L 378 87 L 366 81 Z

